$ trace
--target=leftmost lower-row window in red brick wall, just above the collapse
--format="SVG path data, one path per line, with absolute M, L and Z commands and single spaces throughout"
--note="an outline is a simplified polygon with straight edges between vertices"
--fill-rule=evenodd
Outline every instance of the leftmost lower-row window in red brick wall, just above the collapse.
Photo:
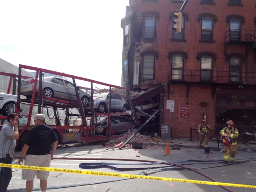
M 154 79 L 154 55 L 144 55 L 143 57 L 143 79 Z

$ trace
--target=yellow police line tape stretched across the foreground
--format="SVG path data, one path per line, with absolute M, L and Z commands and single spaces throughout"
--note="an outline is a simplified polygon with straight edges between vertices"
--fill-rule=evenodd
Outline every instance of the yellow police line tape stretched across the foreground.
M 120 174 L 120 173 L 88 171 L 88 170 L 61 169 L 61 168 L 51 168 L 51 167 L 36 167 L 36 166 L 14 165 L 14 164 L 4 164 L 4 163 L 0 163 L 0 167 L 30 169 L 30 170 L 38 170 L 38 171 L 64 172 L 64 173 L 85 174 L 85 175 L 125 177 L 125 178 L 134 178 L 134 179 L 151 179 L 151 180 L 184 182 L 184 183 L 205 184 L 205 185 L 220 185 L 220 186 L 229 186 L 229 187 L 244 187 L 244 188 L 256 189 L 255 185 L 222 183 L 222 182 L 213 182 L 213 181 L 198 181 L 198 180 L 190 180 L 190 179 L 175 179 L 175 178 L 167 178 L 167 177 L 131 175 L 131 174 Z

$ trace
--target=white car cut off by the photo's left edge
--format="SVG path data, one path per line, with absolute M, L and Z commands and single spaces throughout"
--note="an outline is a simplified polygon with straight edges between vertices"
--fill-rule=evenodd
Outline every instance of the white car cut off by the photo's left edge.
M 15 112 L 17 103 L 17 95 L 0 93 L 0 114 L 7 116 L 9 113 Z

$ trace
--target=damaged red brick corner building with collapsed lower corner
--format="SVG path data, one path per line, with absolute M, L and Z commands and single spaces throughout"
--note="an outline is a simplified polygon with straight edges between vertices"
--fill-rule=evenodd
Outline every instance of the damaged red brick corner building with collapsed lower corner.
M 121 20 L 122 86 L 139 92 L 163 86 L 152 98 L 160 109 L 155 128 L 171 123 L 171 137 L 189 137 L 204 113 L 216 132 L 229 119 L 241 132 L 254 131 L 256 0 L 188 0 L 175 33 L 182 4 L 130 0 Z M 167 100 L 175 101 L 171 115 Z

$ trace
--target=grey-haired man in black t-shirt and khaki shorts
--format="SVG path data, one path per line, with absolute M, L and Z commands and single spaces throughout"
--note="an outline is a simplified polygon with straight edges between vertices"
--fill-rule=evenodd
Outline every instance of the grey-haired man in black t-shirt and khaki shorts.
M 28 138 L 19 156 L 19 164 L 23 162 L 22 156 L 26 154 L 24 165 L 50 166 L 50 161 L 57 148 L 58 141 L 53 129 L 45 125 L 44 122 L 45 116 L 43 114 L 35 115 L 35 127 L 29 131 Z M 52 149 L 51 144 L 53 144 Z M 26 191 L 32 191 L 35 175 L 40 179 L 41 191 L 46 191 L 49 171 L 22 169 L 22 179 L 27 180 Z

